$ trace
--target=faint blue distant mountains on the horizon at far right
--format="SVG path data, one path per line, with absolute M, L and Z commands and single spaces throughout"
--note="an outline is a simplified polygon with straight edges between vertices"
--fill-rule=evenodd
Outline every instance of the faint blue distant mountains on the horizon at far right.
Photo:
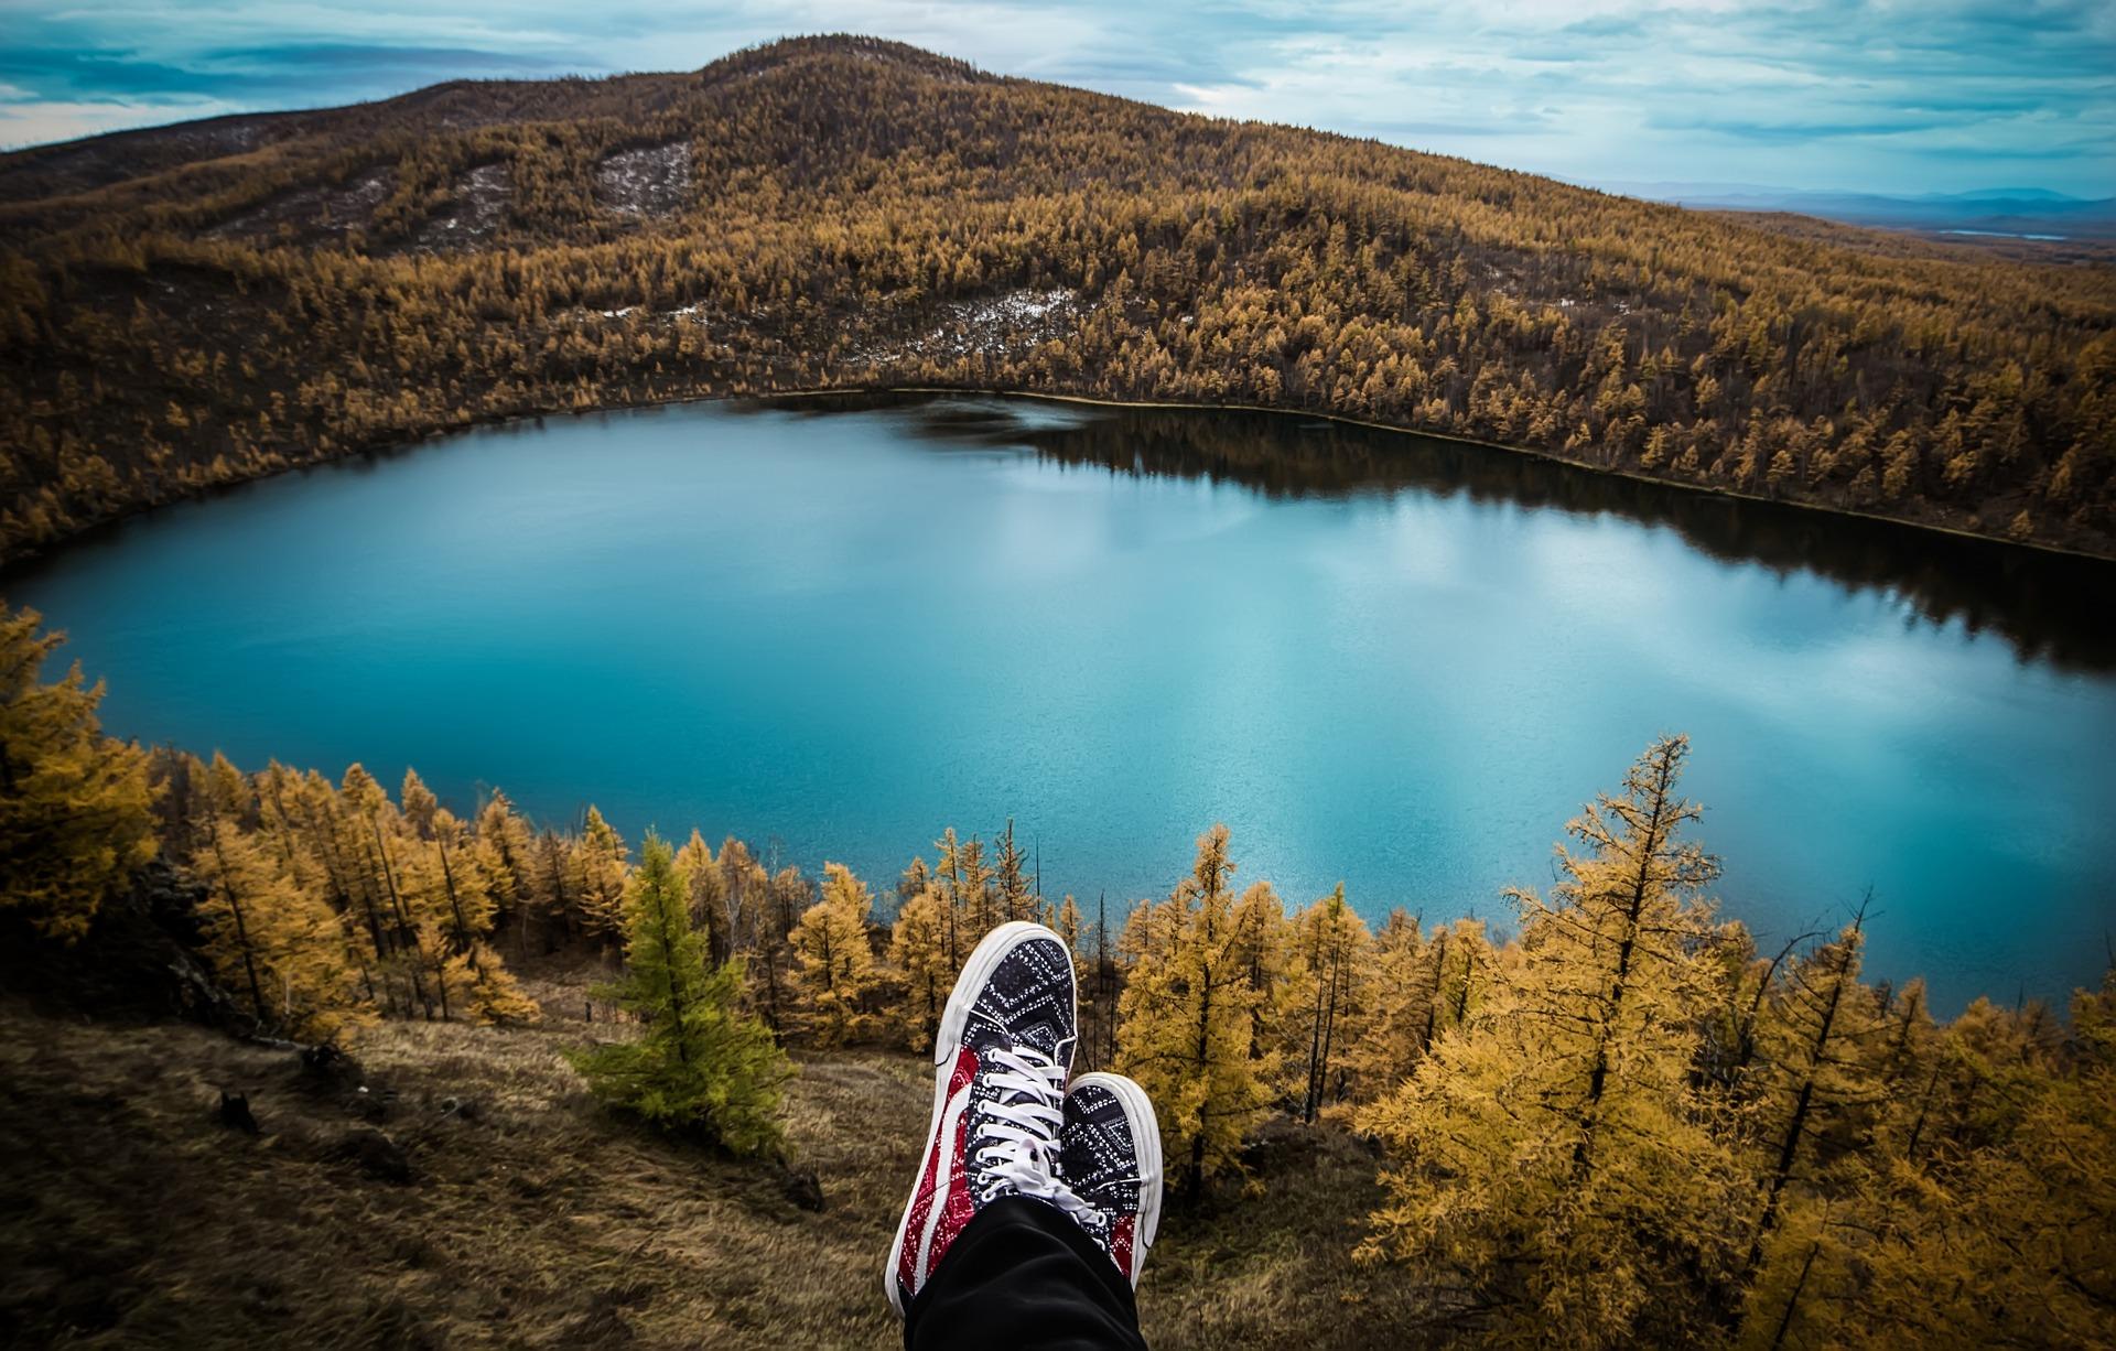
M 1627 197 L 1672 201 L 1720 211 L 1796 211 L 1847 224 L 1894 230 L 1974 235 L 2055 235 L 2061 239 L 2116 239 L 2116 197 L 2065 197 L 2042 188 L 1991 188 L 1983 192 L 1930 192 L 1885 197 L 1879 192 L 1803 192 L 1754 184 L 1593 184 Z

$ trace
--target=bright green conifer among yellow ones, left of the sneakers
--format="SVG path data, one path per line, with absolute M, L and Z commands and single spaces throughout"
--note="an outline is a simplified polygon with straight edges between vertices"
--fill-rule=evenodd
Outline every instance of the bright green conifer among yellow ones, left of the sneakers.
M 639 1036 L 569 1055 L 595 1095 L 734 1152 L 777 1148 L 785 1055 L 741 1011 L 738 964 L 707 968 L 675 854 L 652 833 L 626 886 L 624 962 L 624 979 L 603 994 L 643 1023 Z

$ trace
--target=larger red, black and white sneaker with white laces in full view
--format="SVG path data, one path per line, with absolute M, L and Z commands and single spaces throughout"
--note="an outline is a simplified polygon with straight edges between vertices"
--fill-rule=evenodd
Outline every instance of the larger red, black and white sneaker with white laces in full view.
M 999 1197 L 1039 1197 L 1075 1218 L 1088 1211 L 1058 1180 L 1075 998 L 1073 954 L 1041 924 L 1001 924 L 963 964 L 933 1042 L 927 1148 L 882 1281 L 897 1317 L 963 1226 Z

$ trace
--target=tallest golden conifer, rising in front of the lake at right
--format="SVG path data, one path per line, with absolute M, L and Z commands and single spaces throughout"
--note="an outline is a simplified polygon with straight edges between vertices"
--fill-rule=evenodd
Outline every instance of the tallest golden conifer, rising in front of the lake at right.
M 1551 896 L 1511 892 L 1517 958 L 1358 1116 L 1397 1161 L 1363 1252 L 1490 1307 L 1500 1340 L 1695 1340 L 1731 1317 L 1746 1176 L 1691 1080 L 1718 869 L 1678 839 L 1684 751 L 1655 742 L 1570 822 Z

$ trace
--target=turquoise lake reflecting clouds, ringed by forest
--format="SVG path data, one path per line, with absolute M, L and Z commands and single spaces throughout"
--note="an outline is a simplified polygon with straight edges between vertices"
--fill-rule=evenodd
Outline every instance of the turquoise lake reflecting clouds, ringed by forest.
M 1011 816 L 1090 918 L 1238 880 L 1511 915 L 1693 740 L 1761 934 L 2063 996 L 2116 924 L 2116 567 L 1299 417 L 999 397 L 491 427 L 6 577 L 110 732 L 743 835 L 889 892 Z

